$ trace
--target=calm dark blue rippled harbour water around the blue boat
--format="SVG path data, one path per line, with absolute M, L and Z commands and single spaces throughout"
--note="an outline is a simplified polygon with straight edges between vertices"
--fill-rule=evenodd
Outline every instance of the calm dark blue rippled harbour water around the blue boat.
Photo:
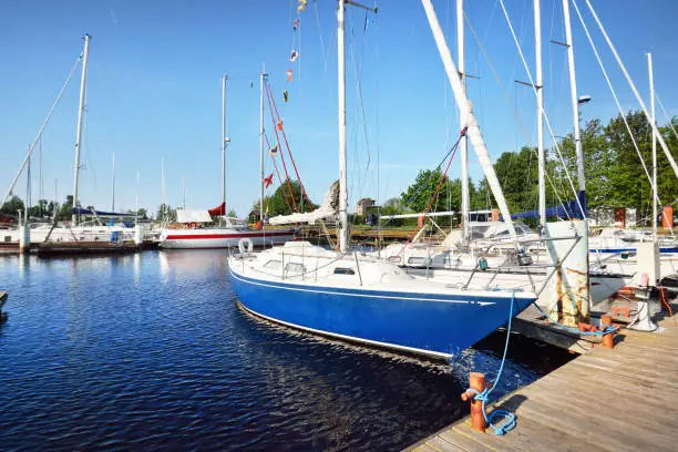
M 400 450 L 468 412 L 504 339 L 439 366 L 290 333 L 237 308 L 219 250 L 0 257 L 0 289 L 2 451 Z M 511 347 L 500 392 L 568 359 Z

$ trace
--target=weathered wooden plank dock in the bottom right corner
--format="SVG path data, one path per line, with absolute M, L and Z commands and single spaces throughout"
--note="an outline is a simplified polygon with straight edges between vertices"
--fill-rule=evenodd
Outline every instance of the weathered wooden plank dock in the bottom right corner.
M 614 349 L 595 347 L 503 397 L 493 407 L 517 418 L 503 436 L 465 418 L 408 451 L 676 451 L 677 322 L 660 320 L 664 332 L 624 329 Z

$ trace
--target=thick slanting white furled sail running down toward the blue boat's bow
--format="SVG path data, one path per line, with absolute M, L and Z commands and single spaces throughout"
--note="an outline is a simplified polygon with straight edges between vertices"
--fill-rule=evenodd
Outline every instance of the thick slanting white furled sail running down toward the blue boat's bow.
M 471 102 L 464 93 L 459 72 L 456 70 L 456 66 L 454 65 L 454 61 L 452 61 L 452 54 L 450 53 L 450 48 L 445 42 L 445 37 L 440 27 L 440 22 L 438 21 L 438 17 L 435 16 L 435 11 L 433 10 L 433 4 L 431 3 L 431 0 L 422 0 L 422 3 L 424 7 L 424 11 L 427 12 L 427 18 L 429 19 L 431 32 L 433 33 L 433 38 L 435 39 L 435 44 L 438 45 L 438 51 L 440 52 L 443 65 L 445 66 L 448 80 L 450 81 L 450 85 L 452 86 L 452 91 L 454 92 L 454 100 L 456 102 L 456 105 L 460 110 L 465 111 L 468 126 L 466 133 L 469 140 L 471 140 L 473 150 L 477 155 L 477 160 L 480 161 L 481 167 L 483 168 L 483 173 L 487 179 L 487 185 L 490 185 L 490 189 L 492 189 L 494 199 L 496 201 L 500 212 L 504 217 L 504 222 L 506 223 L 506 226 L 511 234 L 511 238 L 513 240 L 517 240 L 515 227 L 513 225 L 513 222 L 511 220 L 508 205 L 506 204 L 504 193 L 502 192 L 499 178 L 496 177 L 496 173 L 494 172 L 494 166 L 492 166 L 490 153 L 487 152 L 487 147 L 485 146 L 485 141 L 483 140 L 480 126 L 477 125 L 477 121 L 475 120 L 475 115 L 473 114 L 473 110 L 471 109 Z

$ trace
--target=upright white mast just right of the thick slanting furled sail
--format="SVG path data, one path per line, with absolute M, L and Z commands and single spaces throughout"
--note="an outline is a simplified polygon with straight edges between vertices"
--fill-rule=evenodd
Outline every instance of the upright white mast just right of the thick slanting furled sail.
M 544 85 L 542 75 L 542 8 L 541 0 L 534 0 L 534 52 L 536 64 L 537 93 L 537 160 L 538 160 L 538 197 L 540 226 L 546 226 L 546 156 L 544 155 Z

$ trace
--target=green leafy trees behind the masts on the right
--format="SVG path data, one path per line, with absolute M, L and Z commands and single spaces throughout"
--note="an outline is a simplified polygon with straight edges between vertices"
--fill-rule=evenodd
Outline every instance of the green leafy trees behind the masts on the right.
M 617 115 L 607 124 L 600 120 L 586 122 L 582 130 L 584 173 L 589 209 L 627 207 L 637 209 L 638 218 L 651 217 L 651 184 L 645 173 L 638 152 L 628 134 L 624 116 Z M 638 151 L 651 175 L 651 126 L 645 114 L 631 111 L 626 121 L 638 145 Z M 669 150 L 678 150 L 676 126 L 678 121 L 659 127 Z M 671 129 L 672 127 L 672 129 Z M 562 158 L 555 148 L 546 154 L 546 205 L 561 205 L 574 199 L 577 184 L 575 141 L 572 134 L 561 140 Z M 676 153 L 674 152 L 674 158 Z M 512 213 L 534 210 L 538 206 L 537 151 L 524 146 L 520 151 L 504 152 L 494 163 L 494 171 Z M 567 177 L 569 174 L 572 185 Z M 421 170 L 414 182 L 400 195 L 388 199 L 382 215 L 424 212 L 439 184 L 441 189 L 431 212 L 461 210 L 461 179 L 443 176 L 440 168 Z M 678 183 L 668 158 L 657 144 L 657 187 L 662 205 L 678 203 Z M 486 179 L 470 182 L 471 209 L 496 207 Z

